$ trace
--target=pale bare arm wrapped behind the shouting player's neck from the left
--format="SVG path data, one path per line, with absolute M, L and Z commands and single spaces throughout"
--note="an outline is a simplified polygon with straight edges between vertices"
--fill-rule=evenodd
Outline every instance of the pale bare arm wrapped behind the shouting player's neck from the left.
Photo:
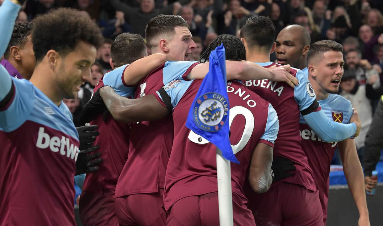
M 124 70 L 124 81 L 126 85 L 137 85 L 138 82 L 152 70 L 166 62 L 166 55 L 155 53 L 150 56 L 134 61 Z

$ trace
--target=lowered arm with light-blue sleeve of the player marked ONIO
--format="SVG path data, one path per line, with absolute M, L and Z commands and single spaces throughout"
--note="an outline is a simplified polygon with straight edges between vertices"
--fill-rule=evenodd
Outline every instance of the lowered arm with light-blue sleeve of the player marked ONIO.
M 255 193 L 267 192 L 272 184 L 273 146 L 277 139 L 278 131 L 277 112 L 269 104 L 265 132 L 259 139 L 250 158 L 249 183 Z

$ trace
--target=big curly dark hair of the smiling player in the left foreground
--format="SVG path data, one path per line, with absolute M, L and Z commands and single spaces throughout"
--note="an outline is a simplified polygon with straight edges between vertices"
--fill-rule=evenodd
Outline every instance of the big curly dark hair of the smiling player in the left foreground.
M 36 61 L 54 49 L 61 56 L 74 51 L 79 41 L 101 46 L 103 37 L 100 28 L 88 15 L 79 10 L 57 8 L 33 20 L 32 43 Z

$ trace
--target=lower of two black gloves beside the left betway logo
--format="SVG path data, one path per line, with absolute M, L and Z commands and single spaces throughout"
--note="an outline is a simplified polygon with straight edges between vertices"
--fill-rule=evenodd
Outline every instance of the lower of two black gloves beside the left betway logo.
M 100 169 L 97 165 L 99 165 L 104 160 L 100 158 L 101 156 L 100 152 L 94 152 L 99 148 L 100 146 L 96 145 L 79 152 L 79 155 L 77 156 L 77 161 L 76 161 L 76 175 L 87 174 L 87 173 L 95 172 L 98 169 Z

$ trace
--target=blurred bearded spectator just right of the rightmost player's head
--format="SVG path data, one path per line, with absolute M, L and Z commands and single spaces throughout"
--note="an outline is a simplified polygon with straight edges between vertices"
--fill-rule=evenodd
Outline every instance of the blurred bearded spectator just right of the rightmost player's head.
M 380 87 L 380 78 L 378 72 L 373 69 L 370 62 L 363 59 L 362 53 L 358 49 L 350 49 L 346 53 L 346 66 L 348 69 L 354 69 L 355 79 L 359 85 L 366 82 L 373 85 L 373 88 Z

